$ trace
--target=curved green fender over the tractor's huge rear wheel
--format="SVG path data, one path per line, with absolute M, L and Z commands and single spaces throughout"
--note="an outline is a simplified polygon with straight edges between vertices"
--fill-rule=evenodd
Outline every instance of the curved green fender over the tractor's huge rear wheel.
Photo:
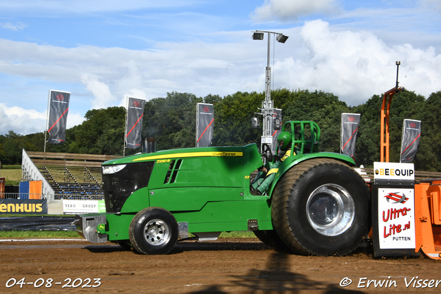
M 302 154 L 298 156 L 289 156 L 283 161 L 283 164 L 280 165 L 280 168 L 277 171 L 276 178 L 274 178 L 274 181 L 271 185 L 271 188 L 269 189 L 269 193 L 267 194 L 269 198 L 271 198 L 274 187 L 276 187 L 277 182 L 280 180 L 280 178 L 283 177 L 283 175 L 291 169 L 291 167 L 294 167 L 294 165 L 298 165 L 300 162 L 309 160 L 312 158 L 333 158 L 335 160 L 339 160 L 341 162 L 345 162 L 349 166 L 355 166 L 356 162 L 353 161 L 353 159 L 345 154 L 338 154 L 333 152 L 318 152 L 318 153 L 312 153 L 312 154 Z

